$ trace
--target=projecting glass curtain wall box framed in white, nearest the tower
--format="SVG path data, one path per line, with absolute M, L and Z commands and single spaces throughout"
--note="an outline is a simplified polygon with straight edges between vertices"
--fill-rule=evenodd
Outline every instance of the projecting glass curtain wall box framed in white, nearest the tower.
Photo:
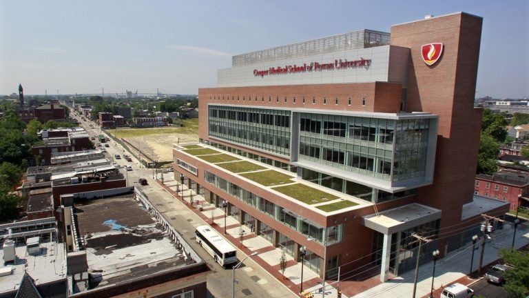
M 429 119 L 300 113 L 300 159 L 386 181 L 421 177 L 429 125 Z M 324 183 L 341 187 L 332 179 Z

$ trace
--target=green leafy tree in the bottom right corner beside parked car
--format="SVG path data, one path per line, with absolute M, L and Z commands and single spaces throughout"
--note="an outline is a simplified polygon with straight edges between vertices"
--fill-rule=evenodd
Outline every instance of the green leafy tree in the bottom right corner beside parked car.
M 510 248 L 499 250 L 501 259 L 513 266 L 505 272 L 505 290 L 508 297 L 526 297 L 529 295 L 529 251 L 517 251 Z

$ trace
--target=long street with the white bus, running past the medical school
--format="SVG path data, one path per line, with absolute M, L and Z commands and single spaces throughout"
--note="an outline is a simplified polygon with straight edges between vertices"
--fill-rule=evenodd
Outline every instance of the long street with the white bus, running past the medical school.
M 96 137 L 103 133 L 98 131 L 97 126 L 92 121 L 82 121 L 80 117 L 74 115 L 74 112 L 71 112 L 70 115 L 81 123 L 81 126 L 85 128 L 90 137 Z M 94 128 L 89 127 L 90 123 L 94 124 Z M 98 143 L 97 139 L 94 142 Z M 108 143 L 110 147 L 105 148 L 107 150 L 105 155 L 108 159 L 112 161 L 114 155 L 123 155 L 124 151 L 120 145 L 114 143 L 112 140 Z M 233 271 L 218 265 L 195 241 L 194 228 L 207 223 L 158 185 L 152 179 L 153 172 L 151 168 L 140 168 L 139 161 L 134 159 L 134 157 L 132 157 L 131 162 L 127 162 L 125 159 L 116 159 L 114 161 L 120 166 L 132 166 L 132 171 L 127 171 L 122 168 L 123 175 L 127 177 L 127 185 L 138 186 L 138 178 L 147 179 L 149 183 L 147 186 L 138 187 L 145 192 L 149 197 L 149 201 L 158 209 L 158 212 L 169 220 L 169 223 L 183 235 L 198 255 L 209 264 L 212 273 L 207 278 L 207 289 L 211 295 L 214 297 L 232 297 Z M 164 179 L 171 179 L 169 176 L 172 175 L 173 173 L 166 173 L 164 174 Z M 239 259 L 246 256 L 240 250 L 237 251 L 237 255 Z M 243 266 L 236 270 L 236 279 L 239 282 L 236 284 L 235 297 L 298 297 L 286 286 L 269 275 L 266 270 L 260 268 L 251 258 L 246 259 Z

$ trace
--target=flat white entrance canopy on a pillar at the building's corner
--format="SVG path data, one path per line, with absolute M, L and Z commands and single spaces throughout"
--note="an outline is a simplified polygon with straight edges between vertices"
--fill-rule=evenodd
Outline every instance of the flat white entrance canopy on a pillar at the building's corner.
M 441 218 L 441 210 L 411 203 L 363 217 L 364 226 L 384 235 L 402 232 Z

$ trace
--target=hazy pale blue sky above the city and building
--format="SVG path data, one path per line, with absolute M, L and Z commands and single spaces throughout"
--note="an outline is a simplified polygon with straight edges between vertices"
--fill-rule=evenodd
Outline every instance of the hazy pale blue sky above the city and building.
M 0 0 L 0 95 L 198 94 L 236 54 L 461 11 L 484 18 L 476 97 L 529 98 L 528 0 Z

